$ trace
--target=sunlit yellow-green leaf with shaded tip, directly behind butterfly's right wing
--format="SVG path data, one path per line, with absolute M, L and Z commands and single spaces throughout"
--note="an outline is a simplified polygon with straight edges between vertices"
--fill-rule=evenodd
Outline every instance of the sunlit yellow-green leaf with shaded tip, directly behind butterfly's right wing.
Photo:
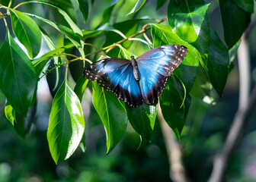
M 189 93 L 194 84 L 194 80 L 197 77 L 199 61 L 202 60 L 199 52 L 194 46 L 184 42 L 184 40 L 173 33 L 169 26 L 152 24 L 151 34 L 154 41 L 154 47 L 171 44 L 184 45 L 187 47 L 187 56 L 181 62 L 181 65 L 174 70 L 174 74 L 180 78 L 182 83 L 184 83 L 187 93 Z

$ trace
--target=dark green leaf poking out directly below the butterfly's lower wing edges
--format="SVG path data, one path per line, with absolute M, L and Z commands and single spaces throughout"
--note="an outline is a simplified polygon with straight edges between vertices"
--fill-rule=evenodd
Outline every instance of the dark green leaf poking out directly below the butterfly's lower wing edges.
M 150 141 L 155 126 L 155 117 L 158 111 L 158 104 L 146 105 L 143 103 L 136 108 L 126 105 L 126 111 L 130 124 L 142 137 L 142 140 Z

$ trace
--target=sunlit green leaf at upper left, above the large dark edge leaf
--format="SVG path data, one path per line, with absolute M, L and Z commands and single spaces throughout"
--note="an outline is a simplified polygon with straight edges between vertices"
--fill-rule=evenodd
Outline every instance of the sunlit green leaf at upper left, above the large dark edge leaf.
M 26 47 L 30 58 L 37 56 L 40 51 L 42 35 L 37 23 L 27 14 L 9 9 L 11 25 L 18 40 Z

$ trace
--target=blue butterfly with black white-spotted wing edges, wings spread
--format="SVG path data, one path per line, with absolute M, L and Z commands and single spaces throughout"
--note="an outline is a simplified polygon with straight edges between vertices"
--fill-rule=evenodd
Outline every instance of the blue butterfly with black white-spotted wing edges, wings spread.
M 118 99 L 137 107 L 142 102 L 152 105 L 165 89 L 167 78 L 187 55 L 183 45 L 162 45 L 140 55 L 124 58 L 104 58 L 89 65 L 84 77 L 97 81 Z

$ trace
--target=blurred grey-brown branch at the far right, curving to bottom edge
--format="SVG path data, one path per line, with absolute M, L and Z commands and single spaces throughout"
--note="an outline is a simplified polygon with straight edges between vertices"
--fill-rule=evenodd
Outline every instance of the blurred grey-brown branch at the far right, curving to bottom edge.
M 213 171 L 208 182 L 222 181 L 229 158 L 232 155 L 235 146 L 237 146 L 241 140 L 245 125 L 256 105 L 256 86 L 254 86 L 251 96 L 249 96 L 251 83 L 249 64 L 248 44 L 244 35 L 242 36 L 242 42 L 238 49 L 238 70 L 240 76 L 238 111 L 235 114 L 223 150 L 219 155 L 216 155 L 216 158 L 213 161 Z

